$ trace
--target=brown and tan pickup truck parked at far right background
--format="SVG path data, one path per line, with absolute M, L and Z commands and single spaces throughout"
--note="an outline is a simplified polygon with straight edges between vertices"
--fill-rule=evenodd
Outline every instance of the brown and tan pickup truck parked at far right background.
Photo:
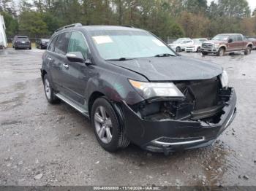
M 225 55 L 225 52 L 241 52 L 245 55 L 251 53 L 252 42 L 246 40 L 242 34 L 218 34 L 213 39 L 203 42 L 201 52 L 203 55 L 214 53 L 216 55 Z

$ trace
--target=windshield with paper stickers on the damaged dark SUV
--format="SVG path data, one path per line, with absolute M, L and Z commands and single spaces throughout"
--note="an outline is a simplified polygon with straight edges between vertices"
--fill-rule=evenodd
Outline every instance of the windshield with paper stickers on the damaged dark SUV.
M 90 31 L 90 34 L 99 55 L 105 60 L 176 55 L 146 31 Z

